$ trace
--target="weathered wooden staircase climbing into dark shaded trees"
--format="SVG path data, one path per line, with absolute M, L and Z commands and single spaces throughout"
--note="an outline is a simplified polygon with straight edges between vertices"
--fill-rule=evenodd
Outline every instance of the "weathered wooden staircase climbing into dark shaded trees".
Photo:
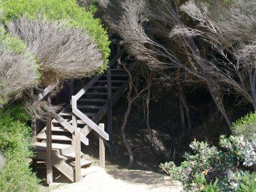
M 89 145 L 86 136 L 90 131 L 93 130 L 100 138 L 109 140 L 112 132 L 108 134 L 97 124 L 124 94 L 129 81 L 129 74 L 124 68 L 113 67 L 115 61 L 116 58 L 110 62 L 106 74 L 93 77 L 73 95 L 71 104 L 65 109 L 58 114 L 49 114 L 47 126 L 36 135 L 36 154 L 33 159 L 47 164 L 47 182 L 52 182 L 51 166 L 60 170 L 72 182 L 77 182 L 84 176 L 83 168 L 90 166 L 92 161 L 86 159 L 81 152 L 81 142 Z M 128 65 L 127 68 L 133 73 L 134 68 L 131 66 Z

